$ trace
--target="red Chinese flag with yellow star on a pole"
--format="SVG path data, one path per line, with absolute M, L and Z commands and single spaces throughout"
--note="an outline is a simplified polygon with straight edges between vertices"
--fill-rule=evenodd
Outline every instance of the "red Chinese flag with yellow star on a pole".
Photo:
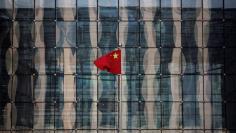
M 121 50 L 113 50 L 94 61 L 101 70 L 107 70 L 112 74 L 121 74 Z

